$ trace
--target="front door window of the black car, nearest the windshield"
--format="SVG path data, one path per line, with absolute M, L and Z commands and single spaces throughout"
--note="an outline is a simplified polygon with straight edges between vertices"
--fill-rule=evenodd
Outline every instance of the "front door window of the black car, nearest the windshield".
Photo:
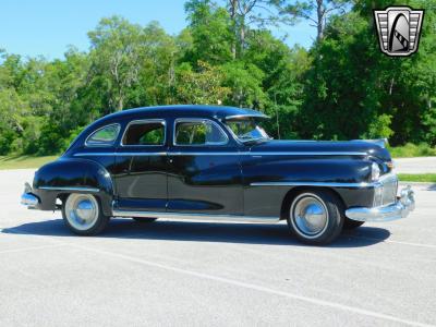
M 222 145 L 227 142 L 226 133 L 210 120 L 175 122 L 177 145 Z

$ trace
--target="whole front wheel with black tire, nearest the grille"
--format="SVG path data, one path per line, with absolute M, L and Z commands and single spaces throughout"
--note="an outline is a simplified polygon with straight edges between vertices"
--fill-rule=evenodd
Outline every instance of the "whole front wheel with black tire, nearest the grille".
M 325 190 L 299 193 L 289 206 L 288 227 L 302 242 L 328 244 L 342 231 L 342 203 Z

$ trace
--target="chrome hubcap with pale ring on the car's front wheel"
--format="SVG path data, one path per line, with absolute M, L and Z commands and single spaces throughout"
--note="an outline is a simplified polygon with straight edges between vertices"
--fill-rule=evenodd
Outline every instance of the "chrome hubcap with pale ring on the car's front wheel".
M 313 194 L 298 196 L 290 214 L 293 227 L 304 238 L 316 238 L 327 228 L 327 208 L 323 201 Z

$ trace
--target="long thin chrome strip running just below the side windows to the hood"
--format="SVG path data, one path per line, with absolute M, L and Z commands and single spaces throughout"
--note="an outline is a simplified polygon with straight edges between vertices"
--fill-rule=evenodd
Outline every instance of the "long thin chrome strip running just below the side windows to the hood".
M 75 157 L 81 156 L 367 156 L 366 153 L 250 153 L 250 152 L 213 152 L 213 153 L 199 153 L 199 152 L 158 152 L 158 153 L 76 153 Z

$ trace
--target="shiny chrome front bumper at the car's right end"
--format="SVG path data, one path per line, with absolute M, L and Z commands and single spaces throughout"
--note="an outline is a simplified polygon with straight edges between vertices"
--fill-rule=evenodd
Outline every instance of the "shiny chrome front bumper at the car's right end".
M 401 190 L 397 201 L 390 205 L 374 208 L 350 208 L 346 210 L 346 216 L 358 221 L 390 221 L 405 218 L 414 208 L 414 193 L 410 186 L 407 186 Z

